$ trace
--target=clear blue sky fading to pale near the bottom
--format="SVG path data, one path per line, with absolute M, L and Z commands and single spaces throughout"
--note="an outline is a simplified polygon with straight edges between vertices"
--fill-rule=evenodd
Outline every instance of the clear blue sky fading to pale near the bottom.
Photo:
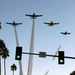
M 12 75 L 10 66 L 15 63 L 17 70 L 15 75 L 19 75 L 19 64 L 15 60 L 16 40 L 14 28 L 6 22 L 21 22 L 17 27 L 19 45 L 23 47 L 23 52 L 29 52 L 32 19 L 25 14 L 41 14 L 35 20 L 34 53 L 40 51 L 54 55 L 61 45 L 60 51 L 65 52 L 65 56 L 75 56 L 75 0 L 1 0 L 0 1 L 0 39 L 4 40 L 10 57 L 6 59 L 6 74 Z M 44 22 L 59 22 L 57 26 L 48 26 Z M 70 35 L 62 35 L 60 32 L 71 32 Z M 27 74 L 28 56 L 22 54 L 23 74 Z M 2 75 L 4 75 L 2 59 Z M 39 58 L 34 56 L 32 75 L 44 75 L 49 70 L 48 75 L 70 75 L 75 70 L 75 60 L 65 59 L 64 65 L 58 64 L 58 58 Z

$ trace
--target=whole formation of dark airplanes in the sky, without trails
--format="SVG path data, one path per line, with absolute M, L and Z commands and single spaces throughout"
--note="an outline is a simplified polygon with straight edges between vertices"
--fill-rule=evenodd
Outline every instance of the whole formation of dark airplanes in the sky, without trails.
M 29 16 L 29 17 L 31 17 L 31 19 L 36 19 L 37 17 L 41 17 L 42 15 L 36 15 L 35 13 L 33 13 L 32 15 L 25 14 L 25 16 Z M 13 21 L 13 23 L 6 22 L 6 24 L 10 24 L 12 26 L 17 26 L 17 25 L 21 25 L 22 23 L 16 23 L 15 21 Z M 44 22 L 44 24 L 47 24 L 48 26 L 54 26 L 54 25 L 58 25 L 59 23 L 54 23 L 53 21 L 51 21 L 51 22 Z M 0 22 L 0 29 L 1 28 L 2 28 L 2 26 L 1 26 L 1 22 Z M 61 32 L 60 34 L 68 35 L 71 33 L 68 33 L 67 31 L 65 31 L 65 32 Z

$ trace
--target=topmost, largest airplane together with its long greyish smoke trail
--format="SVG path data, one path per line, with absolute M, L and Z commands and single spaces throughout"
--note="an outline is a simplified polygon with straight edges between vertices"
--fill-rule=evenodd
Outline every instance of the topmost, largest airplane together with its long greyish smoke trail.
M 29 50 L 30 53 L 33 53 L 34 52 L 34 27 L 35 27 L 35 19 L 36 19 L 36 17 L 41 17 L 42 15 L 35 15 L 35 13 L 33 13 L 32 15 L 25 14 L 25 16 L 29 16 L 29 17 L 31 17 L 31 19 L 33 19 L 33 22 L 32 22 L 32 32 L 31 32 L 31 42 L 30 42 L 30 50 Z M 27 75 L 32 75 L 32 67 L 33 67 L 33 56 L 29 55 Z

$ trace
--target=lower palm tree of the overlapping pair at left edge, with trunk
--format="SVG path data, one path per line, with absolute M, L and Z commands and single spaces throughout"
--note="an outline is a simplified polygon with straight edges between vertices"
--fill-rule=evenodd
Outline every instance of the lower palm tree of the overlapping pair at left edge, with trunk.
M 6 47 L 1 50 L 1 56 L 4 59 L 4 75 L 6 75 L 6 58 L 9 57 L 9 50 Z

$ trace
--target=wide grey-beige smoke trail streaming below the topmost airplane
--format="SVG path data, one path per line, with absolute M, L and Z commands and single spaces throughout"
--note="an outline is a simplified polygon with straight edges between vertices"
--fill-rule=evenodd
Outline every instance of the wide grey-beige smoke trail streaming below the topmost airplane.
M 31 32 L 31 42 L 30 42 L 30 53 L 34 52 L 34 18 L 32 24 L 32 32 Z M 33 55 L 29 55 L 29 62 L 28 62 L 28 71 L 27 75 L 32 75 L 32 67 L 33 67 Z

